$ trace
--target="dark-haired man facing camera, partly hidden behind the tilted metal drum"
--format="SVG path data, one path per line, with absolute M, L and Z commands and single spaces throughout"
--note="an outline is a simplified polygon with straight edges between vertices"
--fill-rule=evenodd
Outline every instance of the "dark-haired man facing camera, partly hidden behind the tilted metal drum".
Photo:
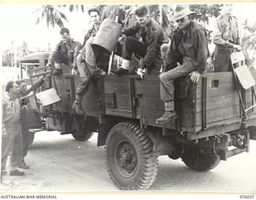
M 99 16 L 99 10 L 97 8 L 90 8 L 88 10 L 88 14 L 90 15 L 90 22 L 93 23 L 92 27 L 90 28 L 90 30 L 88 30 L 84 41 L 83 41 L 83 46 L 85 46 L 86 41 L 91 38 L 91 37 L 95 37 L 99 26 L 101 25 L 101 21 L 100 21 L 100 16 Z

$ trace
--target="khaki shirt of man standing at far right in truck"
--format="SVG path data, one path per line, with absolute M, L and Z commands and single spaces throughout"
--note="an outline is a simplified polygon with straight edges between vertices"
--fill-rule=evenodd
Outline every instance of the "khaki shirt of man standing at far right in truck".
M 234 16 L 222 15 L 214 24 L 214 44 L 221 47 L 233 48 L 233 44 L 241 43 L 238 29 L 238 19 Z

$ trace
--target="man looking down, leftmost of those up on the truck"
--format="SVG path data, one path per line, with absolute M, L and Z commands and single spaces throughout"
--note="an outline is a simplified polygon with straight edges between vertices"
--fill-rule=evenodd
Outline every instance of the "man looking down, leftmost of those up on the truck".
M 70 38 L 70 30 L 63 27 L 60 30 L 62 41 L 58 42 L 55 50 L 50 54 L 49 61 L 46 66 L 55 64 L 54 75 L 62 74 L 62 66 L 70 66 L 72 70 L 77 70 L 76 58 L 82 44 Z

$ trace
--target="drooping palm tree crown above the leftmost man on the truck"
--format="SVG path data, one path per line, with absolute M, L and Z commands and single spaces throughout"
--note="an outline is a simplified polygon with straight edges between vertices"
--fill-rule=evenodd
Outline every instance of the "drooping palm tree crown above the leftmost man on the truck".
M 62 11 L 58 10 L 59 7 L 60 6 L 45 5 L 35 10 L 33 13 L 38 14 L 36 24 L 38 25 L 39 22 L 42 22 L 42 20 L 46 19 L 46 24 L 48 28 L 49 26 L 54 27 L 55 24 L 57 24 L 59 27 L 63 27 L 63 20 L 65 20 L 66 22 L 68 20 L 66 18 L 66 15 L 63 14 Z

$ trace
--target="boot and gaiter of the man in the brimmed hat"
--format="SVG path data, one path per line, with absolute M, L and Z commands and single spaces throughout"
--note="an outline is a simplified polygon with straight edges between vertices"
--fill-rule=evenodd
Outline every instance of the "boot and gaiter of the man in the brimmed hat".
M 165 102 L 166 112 L 162 115 L 161 118 L 158 118 L 155 123 L 157 124 L 165 124 L 170 122 L 170 120 L 177 118 L 176 111 L 174 110 L 174 101 Z

